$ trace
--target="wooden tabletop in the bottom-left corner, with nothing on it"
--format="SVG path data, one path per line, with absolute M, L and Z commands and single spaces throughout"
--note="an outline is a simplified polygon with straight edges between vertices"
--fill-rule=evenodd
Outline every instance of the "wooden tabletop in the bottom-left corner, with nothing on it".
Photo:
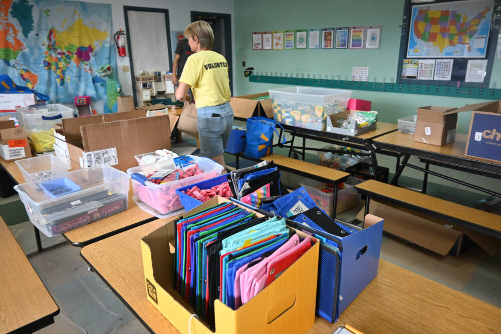
M 33 332 L 54 323 L 59 307 L 0 217 L 0 332 Z

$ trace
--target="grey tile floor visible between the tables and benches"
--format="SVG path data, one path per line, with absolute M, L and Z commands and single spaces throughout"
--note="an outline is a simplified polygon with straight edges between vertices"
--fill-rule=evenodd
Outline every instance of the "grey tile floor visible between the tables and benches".
M 185 136 L 183 138 L 185 143 L 190 142 Z M 183 153 L 190 153 L 193 149 L 189 144 L 177 145 L 177 150 Z M 390 171 L 394 170 L 393 158 L 378 156 L 378 159 L 382 166 L 390 167 Z M 457 178 L 501 189 L 501 180 L 492 181 L 463 172 L 452 173 Z M 404 176 L 421 178 L 421 175 L 416 175 L 413 171 L 404 171 Z M 438 182 L 437 180 L 430 178 L 430 182 Z M 454 188 L 448 191 L 454 191 Z M 0 199 L 0 204 L 14 200 L 19 200 L 19 196 Z M 358 210 L 356 208 L 343 213 L 342 219 L 350 220 Z M 12 226 L 11 229 L 27 254 L 36 251 L 33 225 L 30 222 Z M 61 236 L 46 238 L 42 235 L 42 244 L 44 247 L 60 244 L 42 253 L 34 253 L 29 259 L 61 312 L 56 316 L 55 323 L 41 329 L 40 333 L 147 333 L 101 279 L 88 271 L 86 263 L 80 257 L 80 248 L 71 246 Z M 385 234 L 381 258 L 501 307 L 501 252 L 489 256 L 473 244 L 458 258 L 440 256 Z

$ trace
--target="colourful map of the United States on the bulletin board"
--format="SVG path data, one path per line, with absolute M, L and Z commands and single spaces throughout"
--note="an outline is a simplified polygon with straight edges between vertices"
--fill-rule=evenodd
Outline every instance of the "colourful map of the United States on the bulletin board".
M 412 7 L 407 57 L 485 57 L 492 0 Z

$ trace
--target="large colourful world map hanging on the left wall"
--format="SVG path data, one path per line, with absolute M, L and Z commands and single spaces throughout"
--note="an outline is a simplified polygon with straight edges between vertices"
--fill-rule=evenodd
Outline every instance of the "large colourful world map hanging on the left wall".
M 0 2 L 0 73 L 69 103 L 106 99 L 100 65 L 116 68 L 111 5 L 57 0 Z

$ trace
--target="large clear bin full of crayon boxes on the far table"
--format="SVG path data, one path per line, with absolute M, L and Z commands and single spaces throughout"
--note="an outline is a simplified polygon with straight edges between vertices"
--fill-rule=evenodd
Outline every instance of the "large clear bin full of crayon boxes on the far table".
M 345 111 L 351 91 L 318 87 L 269 90 L 276 122 L 325 131 L 326 117 Z

